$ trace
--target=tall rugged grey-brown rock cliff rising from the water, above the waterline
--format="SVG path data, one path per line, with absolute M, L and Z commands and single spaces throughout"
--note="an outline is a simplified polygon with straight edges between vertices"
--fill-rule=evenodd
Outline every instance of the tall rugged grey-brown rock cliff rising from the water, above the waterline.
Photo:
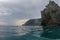
M 60 25 L 60 7 L 54 2 L 50 1 L 46 8 L 41 11 L 42 22 L 41 25 Z

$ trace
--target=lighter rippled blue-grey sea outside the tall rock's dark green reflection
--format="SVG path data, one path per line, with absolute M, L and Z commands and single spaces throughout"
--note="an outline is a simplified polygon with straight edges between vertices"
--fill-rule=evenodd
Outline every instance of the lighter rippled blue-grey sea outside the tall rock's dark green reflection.
M 0 40 L 60 40 L 41 37 L 42 26 L 0 26 Z

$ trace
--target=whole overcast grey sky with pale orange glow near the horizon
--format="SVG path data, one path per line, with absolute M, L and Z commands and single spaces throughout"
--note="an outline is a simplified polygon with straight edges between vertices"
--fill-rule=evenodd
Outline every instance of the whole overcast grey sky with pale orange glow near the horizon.
M 60 5 L 60 0 L 54 0 Z M 41 18 L 49 0 L 0 0 L 0 25 L 22 25 L 29 19 Z

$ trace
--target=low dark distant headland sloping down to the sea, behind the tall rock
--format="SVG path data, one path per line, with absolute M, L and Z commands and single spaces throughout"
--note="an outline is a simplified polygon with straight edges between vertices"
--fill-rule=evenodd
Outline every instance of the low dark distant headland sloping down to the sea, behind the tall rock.
M 30 19 L 23 26 L 39 26 L 41 24 L 41 19 Z

